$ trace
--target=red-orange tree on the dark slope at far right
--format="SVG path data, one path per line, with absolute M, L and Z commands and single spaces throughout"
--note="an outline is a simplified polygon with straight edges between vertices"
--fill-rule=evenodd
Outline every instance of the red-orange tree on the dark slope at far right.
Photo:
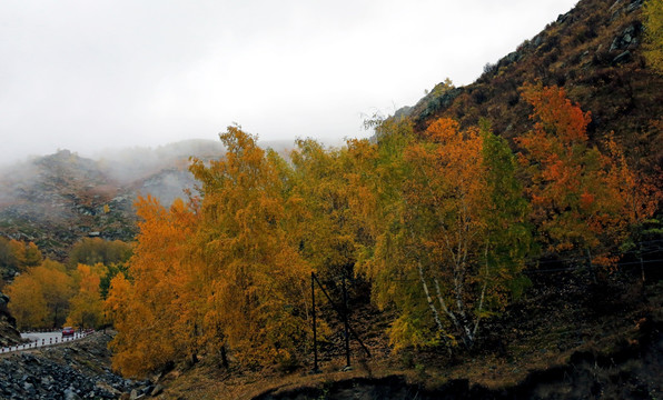
M 534 108 L 534 129 L 517 139 L 523 148 L 526 193 L 544 251 L 614 266 L 629 226 L 655 210 L 612 136 L 606 150 L 588 144 L 590 112 L 557 87 L 526 84 L 523 98 Z

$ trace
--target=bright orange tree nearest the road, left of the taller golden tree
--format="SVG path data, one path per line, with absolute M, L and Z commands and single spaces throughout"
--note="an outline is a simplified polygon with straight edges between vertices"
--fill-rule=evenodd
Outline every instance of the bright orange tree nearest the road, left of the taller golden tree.
M 118 330 L 110 343 L 112 364 L 122 374 L 140 377 L 197 351 L 205 292 L 194 286 L 200 268 L 191 264 L 196 257 L 188 241 L 197 217 L 189 206 L 176 199 L 166 209 L 150 196 L 136 202 L 141 220 L 127 269 L 132 283 L 116 274 L 105 303 Z

